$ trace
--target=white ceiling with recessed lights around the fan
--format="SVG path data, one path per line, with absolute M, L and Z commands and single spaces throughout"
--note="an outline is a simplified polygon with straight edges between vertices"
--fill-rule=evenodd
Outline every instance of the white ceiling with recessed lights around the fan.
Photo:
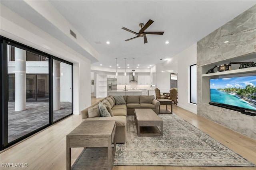
M 124 68 L 124 58 L 126 64 L 130 64 L 130 68 L 133 67 L 133 58 L 136 66 L 140 64 L 139 68 L 163 63 L 165 59 L 171 59 L 256 4 L 255 0 L 49 0 L 49 2 L 98 51 L 100 61 L 93 65 L 102 64 L 104 67 L 112 65 L 112 68 L 116 67 L 116 58 L 121 68 Z M 18 3 L 9 6 L 7 2 L 4 4 L 17 12 Z M 15 4 L 17 8 L 14 7 Z M 26 12 L 26 9 L 20 10 Z M 122 27 L 138 32 L 139 23 L 145 24 L 149 19 L 154 23 L 146 31 L 164 31 L 164 35 L 147 35 L 146 44 L 142 37 L 124 41 L 136 35 L 121 29 Z M 110 41 L 110 44 L 106 44 L 106 41 Z M 170 43 L 165 44 L 166 41 Z

